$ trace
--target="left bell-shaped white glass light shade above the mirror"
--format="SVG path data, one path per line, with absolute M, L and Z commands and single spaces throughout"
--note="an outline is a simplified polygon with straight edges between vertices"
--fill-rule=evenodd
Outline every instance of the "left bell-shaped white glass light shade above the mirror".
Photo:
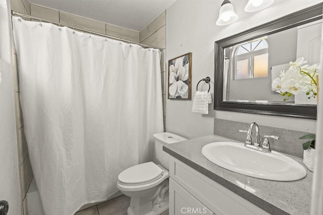
M 219 18 L 217 20 L 217 25 L 228 25 L 233 23 L 238 19 L 238 15 L 234 12 L 233 6 L 229 0 L 224 0 L 221 9 Z

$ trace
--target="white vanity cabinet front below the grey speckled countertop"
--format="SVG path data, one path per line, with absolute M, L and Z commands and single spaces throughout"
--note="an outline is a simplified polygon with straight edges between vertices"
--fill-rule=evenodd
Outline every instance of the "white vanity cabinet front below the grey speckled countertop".
M 170 159 L 170 215 L 269 214 L 183 162 Z

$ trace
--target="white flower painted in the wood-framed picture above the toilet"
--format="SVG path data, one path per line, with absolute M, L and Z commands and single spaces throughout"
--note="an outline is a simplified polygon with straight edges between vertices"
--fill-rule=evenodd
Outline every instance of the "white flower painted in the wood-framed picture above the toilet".
M 184 83 L 188 79 L 188 63 L 183 66 L 183 57 L 177 58 L 175 66 L 170 66 L 170 88 L 169 94 L 175 96 L 176 93 L 183 94 L 188 90 L 188 85 Z

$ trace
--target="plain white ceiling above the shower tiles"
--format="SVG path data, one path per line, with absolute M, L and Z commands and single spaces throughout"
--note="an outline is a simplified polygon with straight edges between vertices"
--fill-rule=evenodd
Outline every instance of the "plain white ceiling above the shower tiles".
M 141 31 L 176 0 L 29 0 L 30 3 Z

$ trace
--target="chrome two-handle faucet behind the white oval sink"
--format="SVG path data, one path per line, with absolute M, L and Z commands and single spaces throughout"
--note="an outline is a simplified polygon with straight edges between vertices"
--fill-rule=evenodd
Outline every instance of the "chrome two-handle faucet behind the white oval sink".
M 254 136 L 254 141 L 252 142 L 252 128 L 255 126 L 256 134 Z M 271 147 L 268 141 L 268 137 L 279 139 L 278 136 L 273 135 L 264 135 L 264 139 L 262 144 L 260 144 L 260 135 L 259 135 L 259 126 L 256 122 L 252 122 L 248 130 L 239 130 L 239 132 L 247 133 L 246 141 L 244 146 L 253 150 L 257 150 L 260 152 L 271 153 Z

